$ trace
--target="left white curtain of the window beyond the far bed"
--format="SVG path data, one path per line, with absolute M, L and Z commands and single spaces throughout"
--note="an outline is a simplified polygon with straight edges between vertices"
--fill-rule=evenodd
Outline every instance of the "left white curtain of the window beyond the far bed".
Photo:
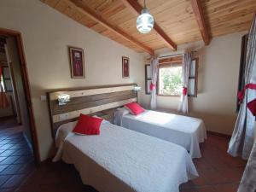
M 150 90 L 151 90 L 150 108 L 151 109 L 156 108 L 156 81 L 157 81 L 157 74 L 158 74 L 158 65 L 159 65 L 159 59 L 152 58 L 150 62 L 151 73 L 152 73 L 152 80 L 150 84 Z

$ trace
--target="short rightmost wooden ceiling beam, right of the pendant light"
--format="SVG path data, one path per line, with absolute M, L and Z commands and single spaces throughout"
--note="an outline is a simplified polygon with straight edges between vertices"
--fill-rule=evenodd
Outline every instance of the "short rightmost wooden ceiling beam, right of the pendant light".
M 195 14 L 195 20 L 199 26 L 201 37 L 206 45 L 210 44 L 211 37 L 207 30 L 206 20 L 204 19 L 203 9 L 201 6 L 201 0 L 191 0 L 192 9 Z

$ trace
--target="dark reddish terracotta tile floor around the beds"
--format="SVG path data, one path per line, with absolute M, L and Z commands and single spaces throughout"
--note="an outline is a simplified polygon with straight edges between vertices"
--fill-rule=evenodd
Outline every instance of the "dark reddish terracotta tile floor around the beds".
M 236 192 L 246 162 L 226 153 L 229 140 L 209 135 L 201 144 L 203 157 L 194 160 L 200 177 L 180 186 L 181 192 Z M 20 192 L 96 192 L 85 186 L 79 173 L 63 162 L 44 162 L 23 183 Z M 172 192 L 172 191 L 171 191 Z

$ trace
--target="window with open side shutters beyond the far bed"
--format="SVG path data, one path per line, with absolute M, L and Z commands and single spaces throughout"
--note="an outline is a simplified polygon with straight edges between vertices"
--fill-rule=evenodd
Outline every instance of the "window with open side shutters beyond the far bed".
M 160 59 L 157 81 L 157 94 L 159 96 L 181 96 L 183 91 L 183 56 Z M 189 96 L 197 96 L 197 67 L 198 58 L 193 59 L 189 69 Z M 150 65 L 145 66 L 146 94 L 150 94 L 151 83 Z

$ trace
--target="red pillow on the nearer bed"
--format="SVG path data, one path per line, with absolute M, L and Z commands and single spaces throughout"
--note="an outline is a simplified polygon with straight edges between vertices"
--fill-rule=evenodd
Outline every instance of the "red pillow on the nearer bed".
M 80 135 L 100 135 L 102 120 L 101 118 L 81 113 L 77 125 L 73 128 L 73 132 Z

